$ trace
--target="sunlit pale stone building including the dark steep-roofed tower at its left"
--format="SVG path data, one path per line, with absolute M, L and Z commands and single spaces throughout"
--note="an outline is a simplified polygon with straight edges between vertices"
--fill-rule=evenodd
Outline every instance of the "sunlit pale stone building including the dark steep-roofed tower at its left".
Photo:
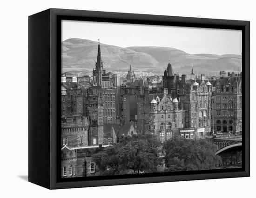
M 164 88 L 178 99 L 180 108 L 185 110 L 186 129 L 182 131 L 193 131 L 195 137 L 210 134 L 212 85 L 209 81 L 205 82 L 202 76 L 201 79 L 196 79 L 192 68 L 191 74 L 180 78 L 173 72 L 171 64 L 168 64 L 163 76 Z

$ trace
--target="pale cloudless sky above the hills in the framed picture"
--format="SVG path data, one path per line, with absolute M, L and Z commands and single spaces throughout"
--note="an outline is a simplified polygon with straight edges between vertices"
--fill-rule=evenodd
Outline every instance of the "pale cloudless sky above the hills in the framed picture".
M 242 53 L 242 31 L 62 20 L 62 38 L 80 38 L 120 47 L 164 46 L 186 53 Z

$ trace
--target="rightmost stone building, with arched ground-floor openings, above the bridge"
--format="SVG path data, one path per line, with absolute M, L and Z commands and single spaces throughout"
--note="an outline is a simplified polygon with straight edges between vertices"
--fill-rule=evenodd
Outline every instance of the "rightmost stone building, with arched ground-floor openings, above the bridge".
M 228 76 L 220 76 L 211 83 L 212 130 L 234 134 L 242 132 L 242 73 L 228 73 Z

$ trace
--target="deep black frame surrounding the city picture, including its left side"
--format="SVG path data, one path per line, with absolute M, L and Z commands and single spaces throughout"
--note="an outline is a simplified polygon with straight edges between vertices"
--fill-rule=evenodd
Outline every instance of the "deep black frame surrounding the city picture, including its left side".
M 126 185 L 182 180 L 249 177 L 250 163 L 250 23 L 133 13 L 48 9 L 29 16 L 29 161 L 28 180 L 48 189 Z M 162 26 L 242 30 L 243 166 L 237 169 L 152 173 L 61 179 L 60 82 L 61 20 L 88 20 Z

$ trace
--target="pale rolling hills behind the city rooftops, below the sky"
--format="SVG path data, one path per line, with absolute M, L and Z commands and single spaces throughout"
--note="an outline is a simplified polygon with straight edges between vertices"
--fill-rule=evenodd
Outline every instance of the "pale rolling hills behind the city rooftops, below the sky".
M 98 42 L 68 39 L 62 42 L 62 70 L 92 72 L 97 59 Z M 139 71 L 163 73 L 171 62 L 175 73 L 241 72 L 242 57 L 236 54 L 189 54 L 172 47 L 119 47 L 101 43 L 101 57 L 106 71 L 128 71 L 130 64 Z

